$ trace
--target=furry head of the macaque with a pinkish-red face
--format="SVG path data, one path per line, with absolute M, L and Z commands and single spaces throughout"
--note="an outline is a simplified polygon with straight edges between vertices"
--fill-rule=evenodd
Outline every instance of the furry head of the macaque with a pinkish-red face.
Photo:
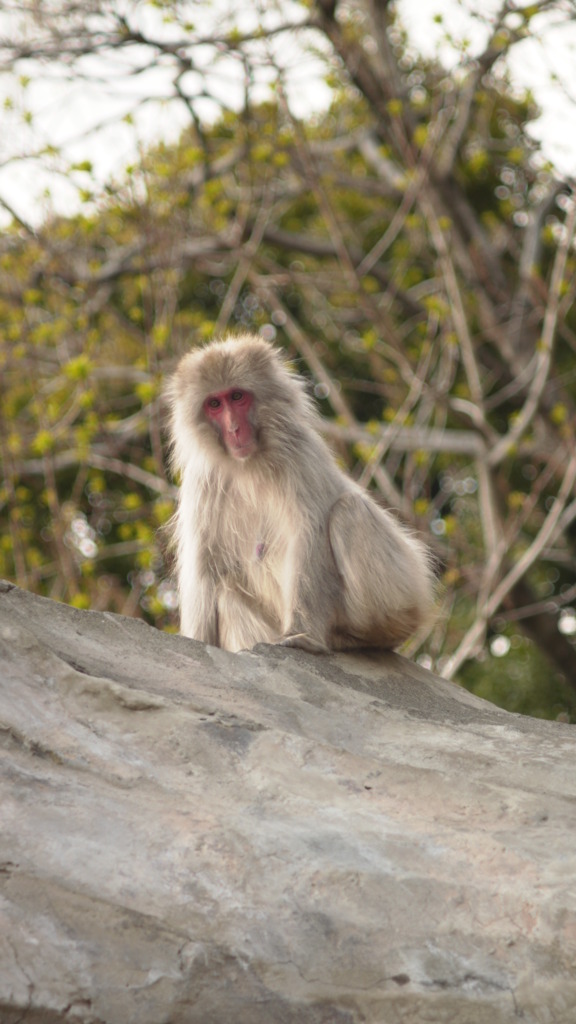
M 213 341 L 180 360 L 168 386 L 174 461 L 279 465 L 314 418 L 305 382 L 255 335 Z

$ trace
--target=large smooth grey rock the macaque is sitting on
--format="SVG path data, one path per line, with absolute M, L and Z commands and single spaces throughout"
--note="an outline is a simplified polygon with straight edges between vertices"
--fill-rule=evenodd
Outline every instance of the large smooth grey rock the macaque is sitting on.
M 2 1024 L 574 1024 L 576 732 L 0 592 Z

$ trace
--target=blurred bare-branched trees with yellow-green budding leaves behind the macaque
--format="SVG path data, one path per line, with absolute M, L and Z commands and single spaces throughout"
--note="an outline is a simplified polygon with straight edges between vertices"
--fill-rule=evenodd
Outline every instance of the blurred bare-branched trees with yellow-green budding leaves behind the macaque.
M 162 382 L 260 332 L 436 551 L 442 614 L 408 653 L 575 720 L 576 203 L 506 62 L 550 16 L 574 5 L 506 0 L 448 72 L 386 0 L 4 5 L 5 159 L 80 202 L 28 217 L 0 187 L 1 575 L 175 629 Z M 321 112 L 294 113 L 300 66 Z M 27 97 L 107 77 L 125 131 L 151 88 L 178 130 L 102 186 Z

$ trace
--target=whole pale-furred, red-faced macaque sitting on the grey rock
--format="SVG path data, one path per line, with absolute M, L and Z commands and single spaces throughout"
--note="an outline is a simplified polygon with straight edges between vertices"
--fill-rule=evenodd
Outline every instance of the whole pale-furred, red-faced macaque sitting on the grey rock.
M 252 335 L 168 386 L 180 632 L 227 650 L 397 647 L 430 615 L 426 549 L 336 466 L 305 382 Z

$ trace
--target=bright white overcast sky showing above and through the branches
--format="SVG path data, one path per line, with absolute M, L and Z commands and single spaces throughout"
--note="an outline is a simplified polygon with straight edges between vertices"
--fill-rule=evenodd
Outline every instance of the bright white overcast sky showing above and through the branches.
M 203 8 L 203 17 L 218 12 L 214 0 Z M 232 2 L 232 0 L 231 0 Z M 252 12 L 258 0 L 252 0 Z M 463 45 L 468 56 L 484 48 L 488 38 L 486 19 L 501 5 L 501 0 L 398 0 L 398 8 L 409 38 L 415 49 L 433 55 L 440 53 L 450 68 L 461 60 L 458 53 Z M 272 7 L 264 5 L 265 15 L 273 16 Z M 235 17 L 239 8 L 233 4 Z M 481 12 L 481 13 L 479 13 Z M 442 22 L 437 20 L 441 15 Z M 154 16 L 154 15 L 151 15 Z M 0 31 L 6 31 L 5 15 L 0 12 Z M 532 127 L 533 134 L 542 142 L 546 157 L 562 174 L 576 176 L 576 22 L 568 28 L 554 27 L 553 18 L 540 15 L 533 22 L 537 38 L 526 40 L 513 48 L 510 58 L 512 80 L 519 87 L 532 89 L 542 109 L 542 116 Z M 155 27 L 157 28 L 157 26 Z M 168 29 L 166 30 L 169 31 Z M 449 31 L 454 45 L 443 42 Z M 463 41 L 466 41 L 465 44 Z M 313 109 L 321 110 L 328 100 L 328 90 L 320 80 L 320 66 L 295 48 L 286 46 L 282 59 L 290 67 L 291 103 L 295 113 L 303 115 Z M 212 85 L 228 100 L 241 95 L 241 69 L 230 62 L 214 61 L 213 52 L 204 54 L 210 67 Z M 123 58 L 122 58 L 123 59 Z M 43 159 L 42 167 L 32 160 L 13 162 L 13 154 L 34 153 L 45 145 L 64 146 L 69 158 L 78 164 L 90 161 L 100 183 L 120 175 L 127 165 L 138 158 L 138 146 L 146 146 L 156 139 L 173 140 L 189 123 L 183 105 L 170 102 L 148 102 L 136 118 L 136 129 L 122 120 L 127 111 L 142 96 L 159 97 L 165 94 L 168 78 L 162 68 L 145 75 L 126 79 L 126 66 L 94 65 L 90 69 L 92 84 L 68 81 L 57 68 L 48 68 L 42 79 L 20 86 L 16 80 L 0 80 L 0 102 L 10 96 L 14 109 L 4 109 L 3 130 L 0 132 L 0 197 L 29 223 L 37 223 L 55 208 L 59 213 L 74 212 L 77 189 L 71 188 L 59 173 L 58 160 Z M 200 78 L 198 78 L 200 83 Z M 265 89 L 265 65 L 260 72 L 260 89 Z M 194 85 L 193 77 L 187 83 Z M 2 91 L 3 90 L 3 91 Z M 23 124 L 20 109 L 34 114 L 31 125 Z M 206 101 L 201 113 L 210 116 Z M 94 127 L 100 126 L 94 132 Z M 51 170 L 48 165 L 51 164 Z M 75 172 L 76 184 L 89 185 L 89 176 L 79 169 Z M 50 189 L 51 198 L 43 193 Z M 4 222 L 6 222 L 6 216 Z M 0 223 L 2 216 L 0 212 Z

